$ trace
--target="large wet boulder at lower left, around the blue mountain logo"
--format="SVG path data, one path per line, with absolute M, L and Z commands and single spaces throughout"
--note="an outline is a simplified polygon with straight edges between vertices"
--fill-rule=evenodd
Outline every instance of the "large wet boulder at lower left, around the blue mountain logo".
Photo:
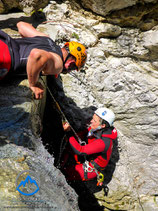
M 78 210 L 76 193 L 40 138 L 46 96 L 33 100 L 28 81 L 20 75 L 1 81 L 0 87 L 0 210 Z M 33 196 L 16 190 L 18 175 L 25 171 L 39 179 Z M 28 188 L 23 192 L 29 193 Z

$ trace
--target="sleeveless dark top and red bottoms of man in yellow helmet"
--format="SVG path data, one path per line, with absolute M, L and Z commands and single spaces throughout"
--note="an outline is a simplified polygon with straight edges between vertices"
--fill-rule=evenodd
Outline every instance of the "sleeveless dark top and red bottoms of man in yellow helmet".
M 26 70 L 28 56 L 31 50 L 34 48 L 56 53 L 63 60 L 63 55 L 60 46 L 56 45 L 56 43 L 49 37 L 36 36 L 13 39 L 8 34 L 0 30 L 0 41 L 5 44 L 5 48 L 6 46 L 8 46 L 11 57 L 11 64 L 7 65 L 7 68 L 5 65 L 6 60 L 0 60 L 0 79 L 2 79 L 10 70 Z M 1 49 L 1 54 L 4 54 L 4 52 L 5 49 Z M 8 56 L 9 55 L 7 55 L 7 57 Z M 5 58 L 5 56 L 3 57 Z M 10 68 L 8 68 L 8 66 Z M 1 70 L 4 72 L 4 70 L 6 69 L 6 74 L 3 74 L 3 76 L 1 77 Z

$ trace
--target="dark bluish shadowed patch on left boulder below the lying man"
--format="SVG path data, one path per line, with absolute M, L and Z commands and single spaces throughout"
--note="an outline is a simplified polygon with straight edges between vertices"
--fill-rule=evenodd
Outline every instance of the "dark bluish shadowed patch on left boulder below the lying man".
M 0 83 L 0 139 L 1 146 L 14 143 L 34 149 L 35 140 L 31 118 L 31 92 L 20 85 L 20 77 L 6 77 Z

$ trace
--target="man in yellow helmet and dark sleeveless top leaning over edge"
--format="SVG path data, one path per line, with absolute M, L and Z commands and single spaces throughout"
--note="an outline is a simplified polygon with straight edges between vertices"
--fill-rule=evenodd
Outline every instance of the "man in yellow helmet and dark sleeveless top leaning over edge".
M 31 24 L 18 22 L 22 38 L 13 39 L 0 31 L 0 79 L 9 71 L 26 69 L 29 87 L 36 99 L 43 97 L 44 88 L 39 75 L 58 75 L 80 70 L 86 62 L 86 48 L 78 42 L 66 42 L 60 48 L 48 35 L 37 31 Z

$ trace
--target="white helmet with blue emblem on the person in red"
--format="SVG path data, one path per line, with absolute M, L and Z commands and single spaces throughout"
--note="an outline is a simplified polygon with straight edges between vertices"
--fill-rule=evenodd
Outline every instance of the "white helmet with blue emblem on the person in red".
M 107 121 L 110 126 L 113 125 L 113 122 L 115 120 L 115 114 L 112 110 L 108 108 L 98 108 L 95 111 L 95 114 L 97 114 L 101 119 Z

